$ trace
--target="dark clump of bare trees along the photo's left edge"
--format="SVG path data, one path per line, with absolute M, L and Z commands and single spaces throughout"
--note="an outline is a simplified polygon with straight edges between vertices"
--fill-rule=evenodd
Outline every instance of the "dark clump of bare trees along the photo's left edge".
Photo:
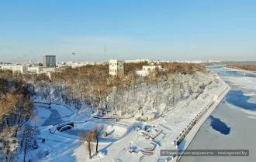
M 22 144 L 18 129 L 32 114 L 33 100 L 24 76 L 0 70 L 0 154 L 12 161 Z M 29 139 L 30 140 L 30 139 Z

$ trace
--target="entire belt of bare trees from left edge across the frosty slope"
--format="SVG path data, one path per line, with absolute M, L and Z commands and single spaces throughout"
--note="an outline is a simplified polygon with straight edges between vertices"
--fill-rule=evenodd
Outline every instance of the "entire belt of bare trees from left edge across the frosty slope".
M 161 63 L 166 70 L 137 76 L 136 71 L 146 65 L 147 62 L 125 63 L 125 76 L 121 78 L 109 76 L 108 65 L 67 68 L 52 73 L 50 78 L 46 74 L 0 71 L 0 154 L 5 155 L 5 161 L 12 161 L 19 150 L 26 160 L 27 150 L 36 147 L 35 128 L 27 126 L 17 133 L 32 115 L 33 97 L 91 113 L 97 110 L 102 116 L 131 116 L 152 109 L 160 113 L 178 100 L 200 93 L 201 87 L 209 83 L 207 74 L 199 77 L 195 73 L 206 71 L 199 64 Z

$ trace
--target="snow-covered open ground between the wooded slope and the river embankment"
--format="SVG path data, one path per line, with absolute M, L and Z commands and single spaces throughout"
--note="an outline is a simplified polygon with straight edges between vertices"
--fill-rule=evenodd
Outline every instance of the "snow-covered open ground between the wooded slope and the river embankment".
M 37 139 L 40 147 L 29 151 L 33 161 L 159 161 L 171 157 L 161 157 L 161 149 L 176 149 L 173 142 L 188 129 L 190 123 L 199 113 L 206 110 L 210 103 L 215 102 L 216 96 L 223 92 L 226 83 L 213 83 L 206 86 L 197 100 L 183 100 L 175 108 L 157 120 L 138 122 L 137 120 L 104 120 L 88 116 L 85 112 L 75 113 L 67 106 L 36 103 L 35 115 L 29 120 L 31 125 L 40 129 Z M 74 122 L 70 130 L 56 130 L 61 123 Z M 88 150 L 85 143 L 79 143 L 78 133 L 104 126 L 109 136 L 100 137 L 99 155 L 88 160 Z M 136 127 L 150 128 L 148 131 L 137 130 Z M 50 133 L 51 132 L 51 133 Z M 54 132 L 54 133 L 53 133 Z M 186 140 L 179 149 L 186 147 Z M 188 143 L 187 143 L 188 144 Z M 95 147 L 94 147 L 95 148 Z M 133 150 L 133 153 L 130 151 Z M 92 150 L 93 153 L 95 149 Z

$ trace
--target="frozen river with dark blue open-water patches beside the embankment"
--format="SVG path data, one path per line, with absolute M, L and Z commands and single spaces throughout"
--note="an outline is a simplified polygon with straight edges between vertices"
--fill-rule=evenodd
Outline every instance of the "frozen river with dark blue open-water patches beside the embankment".
M 215 67 L 213 70 L 220 68 Z M 216 70 L 217 71 L 217 70 Z M 202 124 L 188 150 L 244 149 L 248 157 L 182 157 L 182 162 L 256 161 L 256 77 L 218 72 L 231 87 L 208 120 Z

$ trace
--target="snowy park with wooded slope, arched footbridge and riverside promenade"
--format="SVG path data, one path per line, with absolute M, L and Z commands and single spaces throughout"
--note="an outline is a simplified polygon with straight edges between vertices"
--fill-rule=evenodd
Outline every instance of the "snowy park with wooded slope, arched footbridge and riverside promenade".
M 159 78 L 75 75 L 78 81 L 62 76 L 52 81 L 28 79 L 27 94 L 33 100 L 22 104 L 29 104 L 32 111 L 12 130 L 20 139 L 12 144 L 18 161 L 179 160 L 177 155 L 161 156 L 160 150 L 185 150 L 230 90 L 206 69 L 161 72 Z

